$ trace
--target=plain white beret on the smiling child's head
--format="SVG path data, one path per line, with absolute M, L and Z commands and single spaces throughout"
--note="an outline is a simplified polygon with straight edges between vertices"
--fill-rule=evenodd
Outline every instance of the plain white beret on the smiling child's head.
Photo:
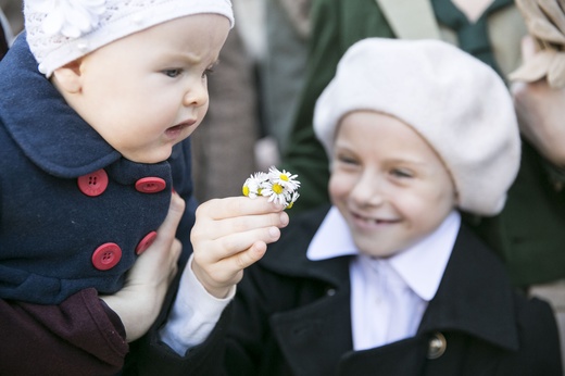
M 510 92 L 488 65 L 439 40 L 364 39 L 316 102 L 314 131 L 329 158 L 336 126 L 356 110 L 392 115 L 424 137 L 451 173 L 461 210 L 502 210 L 520 139 Z

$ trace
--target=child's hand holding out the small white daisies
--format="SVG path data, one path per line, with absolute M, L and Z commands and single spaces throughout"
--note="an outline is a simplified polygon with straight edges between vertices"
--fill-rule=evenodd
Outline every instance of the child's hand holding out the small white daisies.
M 265 197 L 234 197 L 204 202 L 191 233 L 192 271 L 204 288 L 225 298 L 243 270 L 259 261 L 267 245 L 280 237 L 289 218 L 286 205 Z

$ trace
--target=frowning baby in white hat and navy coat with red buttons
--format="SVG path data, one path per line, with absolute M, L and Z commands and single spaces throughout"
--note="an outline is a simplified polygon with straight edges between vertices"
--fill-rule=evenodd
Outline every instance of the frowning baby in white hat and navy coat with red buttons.
M 183 140 L 206 113 L 231 7 L 26 1 L 24 14 L 26 35 L 0 67 L 0 297 L 112 293 L 173 189 L 188 200 Z

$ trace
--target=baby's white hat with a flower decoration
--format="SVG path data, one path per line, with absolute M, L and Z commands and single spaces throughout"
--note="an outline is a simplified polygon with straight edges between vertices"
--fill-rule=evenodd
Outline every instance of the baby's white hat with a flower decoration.
M 25 0 L 29 49 L 47 77 L 93 50 L 160 23 L 216 13 L 231 27 L 230 0 Z

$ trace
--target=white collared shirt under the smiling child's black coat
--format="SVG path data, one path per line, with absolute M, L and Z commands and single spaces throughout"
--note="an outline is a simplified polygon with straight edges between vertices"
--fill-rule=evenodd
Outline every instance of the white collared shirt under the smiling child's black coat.
M 388 259 L 361 254 L 348 225 L 332 206 L 307 249 L 310 260 L 356 255 L 350 264 L 353 348 L 369 349 L 416 334 L 435 297 L 461 215 L 453 211 L 429 236 Z

